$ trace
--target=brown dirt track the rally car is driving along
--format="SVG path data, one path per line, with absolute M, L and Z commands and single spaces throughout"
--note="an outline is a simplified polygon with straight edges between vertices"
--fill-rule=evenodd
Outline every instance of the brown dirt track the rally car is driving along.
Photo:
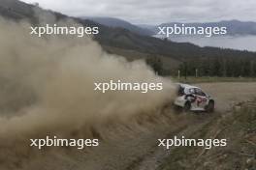
M 198 86 L 216 99 L 217 114 L 225 114 L 233 102 L 256 97 L 256 83 L 205 83 Z M 215 118 L 214 114 L 205 113 L 174 114 L 171 108 L 159 117 L 143 126 L 134 124 L 106 130 L 108 138 L 100 147 L 80 152 L 52 150 L 25 163 L 20 169 L 156 170 L 168 156 L 168 151 L 157 147 L 157 139 L 190 136 Z

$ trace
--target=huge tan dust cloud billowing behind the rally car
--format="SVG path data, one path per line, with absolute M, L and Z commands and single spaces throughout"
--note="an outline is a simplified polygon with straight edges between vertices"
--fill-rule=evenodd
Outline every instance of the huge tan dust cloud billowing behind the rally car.
M 172 82 L 144 61 L 108 54 L 90 37 L 38 38 L 29 28 L 26 22 L 0 19 L 0 149 L 5 153 L 0 160 L 5 163 L 29 155 L 30 138 L 95 137 L 108 126 L 153 116 L 173 97 Z M 164 89 L 94 91 L 94 82 L 110 79 L 162 82 Z M 12 160 L 5 161 L 7 155 Z

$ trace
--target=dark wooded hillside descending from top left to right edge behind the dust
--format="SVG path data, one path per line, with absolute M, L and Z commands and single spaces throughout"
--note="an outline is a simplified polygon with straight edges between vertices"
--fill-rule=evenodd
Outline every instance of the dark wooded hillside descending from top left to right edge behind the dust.
M 107 52 L 122 55 L 128 59 L 159 57 L 165 65 L 166 74 L 176 73 L 178 68 L 193 74 L 195 68 L 201 67 L 203 75 L 245 76 L 252 72 L 250 75 L 256 76 L 255 52 L 200 47 L 188 42 L 161 40 L 136 34 L 125 28 L 110 27 L 89 19 L 46 11 L 17 0 L 0 0 L 0 16 L 11 20 L 26 19 L 32 24 L 38 24 L 39 18 L 33 8 L 36 8 L 37 12 L 40 11 L 40 14 L 53 14 L 56 20 L 72 18 L 83 26 L 98 26 L 100 34 L 96 35 L 94 40 L 99 42 Z

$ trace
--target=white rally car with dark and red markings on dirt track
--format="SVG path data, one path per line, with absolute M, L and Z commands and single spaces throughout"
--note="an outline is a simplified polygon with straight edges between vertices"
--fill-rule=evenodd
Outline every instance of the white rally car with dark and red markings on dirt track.
M 177 85 L 175 105 L 184 111 L 214 111 L 214 99 L 204 93 L 199 87 L 188 84 Z

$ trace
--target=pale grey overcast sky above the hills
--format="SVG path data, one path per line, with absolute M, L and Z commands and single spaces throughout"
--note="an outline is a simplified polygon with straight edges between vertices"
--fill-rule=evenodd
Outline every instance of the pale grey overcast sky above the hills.
M 111 16 L 135 24 L 256 21 L 256 0 L 22 0 L 73 16 Z

